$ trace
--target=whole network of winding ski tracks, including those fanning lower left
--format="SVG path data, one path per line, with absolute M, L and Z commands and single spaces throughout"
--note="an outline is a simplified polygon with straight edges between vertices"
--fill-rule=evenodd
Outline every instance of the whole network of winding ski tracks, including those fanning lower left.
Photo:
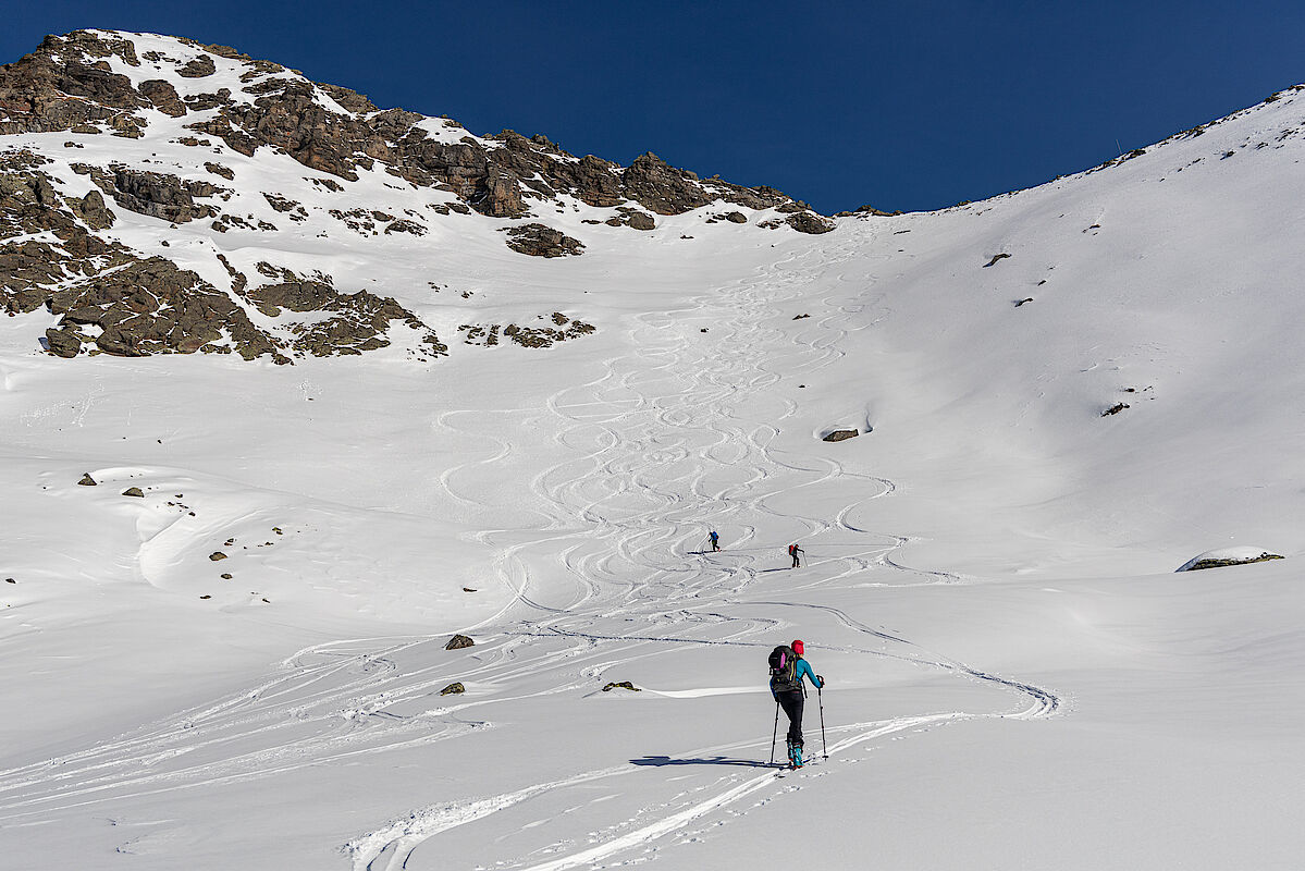
M 855 242 L 852 234 L 843 232 L 840 257 L 852 253 Z M 638 317 L 632 337 L 638 349 L 634 362 L 608 359 L 599 377 L 548 397 L 543 409 L 506 413 L 525 417 L 527 430 L 552 432 L 556 445 L 570 456 L 530 478 L 531 499 L 512 507 L 521 522 L 475 534 L 495 550 L 492 569 L 515 593 L 515 601 L 483 627 L 482 636 L 488 637 L 478 644 L 474 665 L 467 663 L 459 679 L 467 686 L 510 686 L 525 675 L 549 674 L 547 689 L 441 704 L 437 693 L 449 679 L 436 654 L 442 636 L 316 645 L 252 689 L 80 752 L 0 772 L 0 825 L 33 824 L 56 811 L 89 804 L 452 740 L 493 727 L 471 718 L 476 708 L 581 692 L 592 688 L 606 670 L 656 656 L 667 645 L 770 646 L 773 640 L 763 639 L 790 624 L 775 616 L 786 610 L 816 610 L 881 645 L 830 649 L 938 669 L 1023 700 L 1005 713 L 949 712 L 835 726 L 829 730 L 835 735 L 830 757 L 936 723 L 1056 713 L 1060 700 L 1045 689 L 933 654 L 839 609 L 753 598 L 753 590 L 763 586 L 763 572 L 786 559 L 784 542 L 761 541 L 760 518 L 795 530 L 792 539 L 816 539 L 820 550 L 838 551 L 822 554 L 809 565 L 818 571 L 786 588 L 795 598 L 870 569 L 891 571 L 911 584 L 959 580 L 894 562 L 893 552 L 910 539 L 868 529 L 856 520 L 863 505 L 893 494 L 893 482 L 848 471 L 830 458 L 792 456 L 775 445 L 779 428 L 796 414 L 793 402 L 782 401 L 778 414 L 769 415 L 765 424 L 740 414 L 769 398 L 767 388 L 782 379 L 774 366 L 783 366 L 790 376 L 817 372 L 843 354 L 839 342 L 846 328 L 837 315 L 799 321 L 791 333 L 770 325 L 783 303 L 801 299 L 809 281 L 803 278 L 812 273 L 809 268 L 787 268 L 799 257 L 790 256 L 732 287 L 701 296 L 696 307 Z M 689 324 L 696 332 L 699 321 L 713 325 L 710 346 L 683 334 Z M 770 359 L 778 362 L 758 366 L 756 347 L 773 349 Z M 93 400 L 87 397 L 87 404 Z M 483 413 L 478 413 L 482 419 L 475 427 L 461 430 L 463 414 L 470 413 L 448 411 L 433 423 L 445 439 L 466 439 L 472 432 L 478 439 L 472 458 L 446 470 L 440 483 L 468 511 L 492 516 L 505 507 L 488 503 L 474 483 L 459 482 L 463 477 L 474 482 L 476 469 L 487 464 L 519 456 L 522 445 L 493 435 Z M 864 482 L 864 499 L 834 517 L 795 513 L 792 505 L 803 504 L 804 491 L 850 478 Z M 694 555 L 705 526 L 726 526 L 739 534 L 726 552 Z M 149 547 L 154 560 L 171 558 L 164 533 Z M 572 582 L 544 585 L 532 576 L 532 565 L 560 565 Z M 681 607 L 668 610 L 668 602 Z M 769 615 L 752 616 L 753 611 Z M 612 615 L 639 626 L 641 632 L 612 631 Z M 753 736 L 690 755 L 763 748 L 765 736 Z M 793 776 L 813 777 L 820 769 Z M 423 844 L 455 827 L 539 795 L 637 770 L 639 767 L 632 764 L 599 768 L 502 795 L 435 804 L 356 837 L 343 849 L 355 871 L 399 871 Z M 706 795 L 685 793 L 656 808 L 655 815 L 613 823 L 598 844 L 561 844 L 556 851 L 564 855 L 542 859 L 531 854 L 496 867 L 559 871 L 639 847 L 659 849 L 658 842 L 667 836 L 775 784 L 774 770 L 758 774 L 743 767 L 716 781 Z

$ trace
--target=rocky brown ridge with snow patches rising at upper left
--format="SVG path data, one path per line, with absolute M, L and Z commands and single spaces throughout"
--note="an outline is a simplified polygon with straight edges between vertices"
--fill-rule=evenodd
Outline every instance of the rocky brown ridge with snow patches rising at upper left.
M 702 234 L 834 229 L 769 187 L 651 153 L 620 166 L 542 135 L 475 136 L 226 46 L 81 30 L 0 67 L 0 302 L 43 313 L 33 342 L 56 356 L 291 363 L 389 347 L 429 360 L 450 353 L 436 326 L 485 320 L 471 289 L 431 299 L 452 290 L 441 244 L 492 232 L 508 256 L 570 260 L 608 232 L 692 240 L 662 227 L 690 213 Z M 561 214 L 579 230 L 553 226 Z M 342 239 L 358 261 L 416 264 L 424 295 L 305 264 Z M 496 312 L 483 329 L 548 347 L 602 328 L 553 308 Z M 496 343 L 463 329 L 465 343 Z

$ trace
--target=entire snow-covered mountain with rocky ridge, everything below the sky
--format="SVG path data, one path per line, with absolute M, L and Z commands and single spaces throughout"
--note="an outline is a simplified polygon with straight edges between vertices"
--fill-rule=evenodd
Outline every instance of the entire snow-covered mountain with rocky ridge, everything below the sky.
M 48 38 L 0 68 L 7 862 L 1292 867 L 1301 91 L 825 218 Z

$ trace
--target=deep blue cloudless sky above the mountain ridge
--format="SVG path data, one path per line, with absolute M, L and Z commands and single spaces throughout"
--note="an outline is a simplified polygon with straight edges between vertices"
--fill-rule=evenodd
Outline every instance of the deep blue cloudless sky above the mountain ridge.
M 1305 82 L 1305 4 L 0 0 L 47 33 L 217 42 L 381 107 L 643 151 L 825 213 L 932 209 L 1077 172 Z

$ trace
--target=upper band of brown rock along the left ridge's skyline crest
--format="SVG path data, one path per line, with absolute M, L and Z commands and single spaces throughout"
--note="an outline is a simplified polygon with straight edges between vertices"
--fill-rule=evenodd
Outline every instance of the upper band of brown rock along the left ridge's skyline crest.
M 206 54 L 181 65 L 180 76 L 211 76 L 214 57 L 239 61 L 247 67 L 241 81 L 252 102 L 232 99 L 227 89 L 183 101 L 163 80 L 133 87 L 102 60 L 117 55 L 138 65 L 132 43 L 77 31 L 50 37 L 33 54 L 0 67 L 0 133 L 98 132 L 107 127 L 119 136 L 138 136 L 144 120 L 136 110 L 153 107 L 181 116 L 217 108 L 217 118 L 191 128 L 241 154 L 252 155 L 262 146 L 283 149 L 304 166 L 348 180 L 358 178 L 358 168 L 380 162 L 414 184 L 448 185 L 491 217 L 525 215 L 527 200 L 551 200 L 560 193 L 603 208 L 633 200 L 654 214 L 680 214 L 718 200 L 752 209 L 792 202 L 774 188 L 703 182 L 651 153 L 622 168 L 592 155 L 577 161 L 544 136 L 526 138 L 513 131 L 492 137 L 488 148 L 471 137 L 458 144 L 437 142 L 418 127 L 425 120 L 420 115 L 377 111 L 361 94 L 278 76 L 286 72 L 278 64 L 252 60 L 224 46 L 188 44 Z M 343 111 L 322 104 L 320 94 Z M 458 127 L 455 121 L 445 124 Z

